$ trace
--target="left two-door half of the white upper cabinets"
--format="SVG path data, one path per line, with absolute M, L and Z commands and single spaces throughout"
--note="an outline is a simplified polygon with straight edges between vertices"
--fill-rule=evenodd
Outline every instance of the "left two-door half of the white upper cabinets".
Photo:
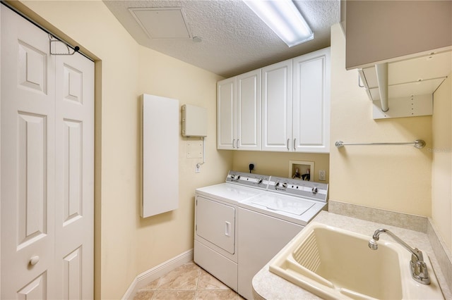
M 218 149 L 261 149 L 261 70 L 217 84 Z

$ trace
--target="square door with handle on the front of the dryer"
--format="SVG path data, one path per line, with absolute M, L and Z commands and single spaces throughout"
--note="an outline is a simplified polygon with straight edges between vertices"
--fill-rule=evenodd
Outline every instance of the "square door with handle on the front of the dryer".
M 198 196 L 196 235 L 234 254 L 235 208 Z

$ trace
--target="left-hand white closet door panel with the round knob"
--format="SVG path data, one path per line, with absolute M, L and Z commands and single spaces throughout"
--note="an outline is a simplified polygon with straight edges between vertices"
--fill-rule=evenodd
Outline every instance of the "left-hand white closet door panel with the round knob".
M 1 6 L 1 299 L 54 298 L 54 59 Z

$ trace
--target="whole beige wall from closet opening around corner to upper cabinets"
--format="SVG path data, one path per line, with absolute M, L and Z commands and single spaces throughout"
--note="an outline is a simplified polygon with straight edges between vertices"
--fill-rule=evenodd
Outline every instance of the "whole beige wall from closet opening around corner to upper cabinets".
M 102 1 L 21 1 L 33 18 L 96 58 L 95 297 L 120 299 L 136 275 L 193 247 L 195 187 L 223 180 L 232 154 L 218 153 L 213 73 L 144 49 Z M 139 217 L 140 94 L 208 108 L 207 162 L 186 158 L 180 137 L 179 208 Z

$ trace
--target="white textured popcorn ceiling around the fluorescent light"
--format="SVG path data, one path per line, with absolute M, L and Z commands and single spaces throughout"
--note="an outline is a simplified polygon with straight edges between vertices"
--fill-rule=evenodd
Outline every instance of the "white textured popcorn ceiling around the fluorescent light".
M 339 0 L 295 0 L 314 39 L 289 48 L 242 0 L 103 2 L 139 44 L 223 77 L 330 46 L 330 27 L 340 20 Z M 202 42 L 150 39 L 128 9 L 141 7 L 182 7 L 192 36 Z

